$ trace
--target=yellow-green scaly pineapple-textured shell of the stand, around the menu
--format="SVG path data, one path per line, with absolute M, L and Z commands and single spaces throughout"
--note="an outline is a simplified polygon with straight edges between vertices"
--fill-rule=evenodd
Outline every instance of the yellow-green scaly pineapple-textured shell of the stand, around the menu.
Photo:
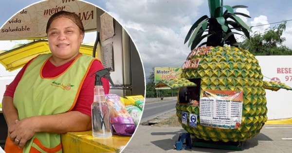
M 236 47 L 210 47 L 207 54 L 195 54 L 188 60 L 200 59 L 198 68 L 184 68 L 182 78 L 200 78 L 202 91 L 240 90 L 243 92 L 241 125 L 235 129 L 206 127 L 200 124 L 200 106 L 177 103 L 177 116 L 182 123 L 182 112 L 197 114 L 197 128 L 183 124 L 183 129 L 204 140 L 245 141 L 256 136 L 267 120 L 263 75 L 255 56 Z M 188 115 L 189 120 L 189 115 Z

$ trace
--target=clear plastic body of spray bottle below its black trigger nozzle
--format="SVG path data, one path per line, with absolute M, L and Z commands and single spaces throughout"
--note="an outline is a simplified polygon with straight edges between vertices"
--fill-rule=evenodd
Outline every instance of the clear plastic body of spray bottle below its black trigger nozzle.
M 105 91 L 102 85 L 94 86 L 94 101 L 91 104 L 92 136 L 110 137 L 110 109 L 106 103 Z

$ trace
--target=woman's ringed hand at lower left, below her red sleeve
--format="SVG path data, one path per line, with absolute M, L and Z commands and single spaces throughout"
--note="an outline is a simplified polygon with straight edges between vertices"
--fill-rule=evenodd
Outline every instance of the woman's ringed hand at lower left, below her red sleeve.
M 15 124 L 8 130 L 10 140 L 19 148 L 23 148 L 26 142 L 35 136 L 33 118 L 15 120 Z

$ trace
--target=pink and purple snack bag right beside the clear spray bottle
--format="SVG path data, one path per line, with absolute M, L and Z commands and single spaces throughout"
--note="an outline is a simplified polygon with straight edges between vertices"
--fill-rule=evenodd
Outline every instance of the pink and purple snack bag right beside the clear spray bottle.
M 110 122 L 113 128 L 112 134 L 132 135 L 135 132 L 135 123 L 124 104 L 120 101 L 120 96 L 107 94 L 106 102 L 110 108 Z

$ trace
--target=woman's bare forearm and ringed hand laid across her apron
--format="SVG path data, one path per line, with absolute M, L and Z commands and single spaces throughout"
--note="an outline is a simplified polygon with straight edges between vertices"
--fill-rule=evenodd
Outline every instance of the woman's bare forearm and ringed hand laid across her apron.
M 34 116 L 15 120 L 8 129 L 8 136 L 15 145 L 23 148 L 37 132 L 63 134 L 91 129 L 91 117 L 78 111 L 56 115 Z

